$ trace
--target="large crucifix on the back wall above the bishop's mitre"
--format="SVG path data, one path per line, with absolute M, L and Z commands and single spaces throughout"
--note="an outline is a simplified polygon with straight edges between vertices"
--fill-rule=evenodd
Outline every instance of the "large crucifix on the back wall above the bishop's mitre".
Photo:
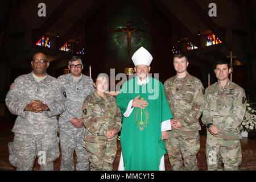
M 117 30 L 109 31 L 109 32 L 125 32 L 127 34 L 127 54 L 128 54 L 128 67 L 131 66 L 131 33 L 135 31 L 140 32 L 150 32 L 147 30 L 141 30 L 139 27 L 131 27 L 130 21 L 127 21 L 127 27 L 117 28 Z

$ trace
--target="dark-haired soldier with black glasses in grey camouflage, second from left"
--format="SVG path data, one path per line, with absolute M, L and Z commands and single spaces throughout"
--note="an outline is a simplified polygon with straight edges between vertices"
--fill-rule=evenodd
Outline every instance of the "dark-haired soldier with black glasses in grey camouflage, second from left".
M 82 123 L 81 107 L 85 98 L 95 89 L 92 78 L 82 75 L 83 67 L 81 58 L 73 56 L 68 63 L 71 73 L 58 78 L 67 94 L 67 110 L 59 119 L 61 171 L 74 170 L 74 150 L 76 150 L 77 171 L 86 171 L 89 168 L 88 154 L 84 148 L 85 127 Z

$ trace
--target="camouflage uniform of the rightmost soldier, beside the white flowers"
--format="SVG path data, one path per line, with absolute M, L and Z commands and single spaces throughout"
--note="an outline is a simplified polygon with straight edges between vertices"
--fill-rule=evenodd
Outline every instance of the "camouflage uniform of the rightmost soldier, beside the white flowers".
M 207 130 L 206 155 L 208 170 L 238 170 L 242 162 L 241 132 L 246 109 L 245 91 L 228 81 L 223 87 L 217 82 L 205 90 L 205 104 L 202 121 L 213 123 L 220 134 L 212 135 Z

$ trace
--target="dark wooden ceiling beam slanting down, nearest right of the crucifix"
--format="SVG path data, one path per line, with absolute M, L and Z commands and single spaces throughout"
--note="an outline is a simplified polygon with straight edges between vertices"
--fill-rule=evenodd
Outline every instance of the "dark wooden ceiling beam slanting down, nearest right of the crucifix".
M 151 0 L 151 2 L 154 3 L 156 7 L 158 7 L 159 10 L 163 12 L 169 18 L 172 22 L 172 24 L 176 24 L 180 28 L 180 32 L 182 32 L 185 36 L 187 36 L 193 44 L 195 44 L 197 47 L 200 46 L 200 38 L 199 36 L 193 35 L 191 31 L 188 30 L 187 27 L 184 26 L 183 23 L 180 22 L 179 19 L 176 18 L 176 16 L 166 7 L 163 5 L 163 3 L 159 0 Z

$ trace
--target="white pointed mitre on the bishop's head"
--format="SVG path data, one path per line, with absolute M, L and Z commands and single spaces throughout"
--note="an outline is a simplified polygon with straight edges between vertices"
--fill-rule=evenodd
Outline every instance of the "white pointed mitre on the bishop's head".
M 147 65 L 149 67 L 152 59 L 153 57 L 144 47 L 139 48 L 134 52 L 133 57 L 131 57 L 135 67 L 140 64 Z

